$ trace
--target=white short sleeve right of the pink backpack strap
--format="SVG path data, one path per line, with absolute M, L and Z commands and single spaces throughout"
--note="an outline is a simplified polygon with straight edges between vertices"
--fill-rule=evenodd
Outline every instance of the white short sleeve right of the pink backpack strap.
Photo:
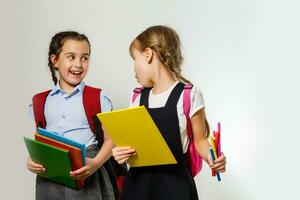
M 198 112 L 199 110 L 201 110 L 202 108 L 204 108 L 204 99 L 203 99 L 203 95 L 201 90 L 194 86 L 191 90 L 191 110 L 190 110 L 190 118 L 192 118 L 192 116 L 194 114 L 196 114 L 196 112 Z

